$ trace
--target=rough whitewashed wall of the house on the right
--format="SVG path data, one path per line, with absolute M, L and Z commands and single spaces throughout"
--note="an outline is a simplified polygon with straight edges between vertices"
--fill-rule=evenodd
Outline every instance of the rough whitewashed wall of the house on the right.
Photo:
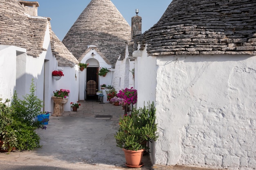
M 137 107 L 155 101 L 153 163 L 254 170 L 256 56 L 141 52 L 133 53 Z

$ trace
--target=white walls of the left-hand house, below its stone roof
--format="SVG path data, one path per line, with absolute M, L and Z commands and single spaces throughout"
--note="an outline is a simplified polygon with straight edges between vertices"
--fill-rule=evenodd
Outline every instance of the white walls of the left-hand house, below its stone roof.
M 47 19 L 46 19 L 47 20 Z M 69 102 L 64 105 L 64 111 L 70 111 L 70 101 L 78 100 L 79 78 L 78 66 L 56 68 L 56 57 L 52 53 L 50 44 L 49 25 L 45 32 L 43 51 L 39 57 L 32 57 L 26 54 L 26 49 L 16 46 L 0 46 L 0 82 L 2 90 L 0 98 L 11 99 L 16 90 L 18 97 L 29 94 L 32 78 L 36 86 L 36 96 L 43 100 L 43 110 L 53 112 L 53 92 L 58 89 L 69 89 Z M 60 69 L 64 76 L 55 81 L 52 78 L 52 71 Z M 75 73 L 77 80 L 75 80 Z M 15 76 L 13 76 L 15 75 Z

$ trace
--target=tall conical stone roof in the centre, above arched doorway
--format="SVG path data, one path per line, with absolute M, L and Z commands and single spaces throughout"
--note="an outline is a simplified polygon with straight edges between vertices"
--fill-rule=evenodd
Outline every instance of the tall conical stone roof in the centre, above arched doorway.
M 92 0 L 63 39 L 63 44 L 79 59 L 89 45 L 115 67 L 130 41 L 131 27 L 110 0 Z

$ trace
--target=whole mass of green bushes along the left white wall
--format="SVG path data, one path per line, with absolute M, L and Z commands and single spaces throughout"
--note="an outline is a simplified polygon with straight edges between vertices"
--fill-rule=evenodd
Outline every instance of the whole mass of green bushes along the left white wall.
M 11 107 L 6 102 L 0 102 L 0 140 L 3 141 L 2 149 L 11 151 L 33 150 L 40 147 L 40 137 L 35 132 L 36 128 L 46 129 L 41 122 L 35 120 L 41 114 L 42 100 L 36 95 L 34 80 L 30 86 L 30 94 L 23 96 L 24 100 L 18 99 L 17 93 L 13 94 Z M 1 101 L 1 100 L 0 100 Z

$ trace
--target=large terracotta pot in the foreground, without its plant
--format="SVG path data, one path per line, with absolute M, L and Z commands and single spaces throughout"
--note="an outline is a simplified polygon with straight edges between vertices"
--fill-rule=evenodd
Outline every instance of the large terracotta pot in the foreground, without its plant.
M 124 149 L 124 155 L 126 159 L 126 166 L 129 168 L 139 168 L 143 166 L 144 164 L 141 162 L 142 157 L 143 157 L 143 151 L 144 149 L 141 150 L 126 150 Z

